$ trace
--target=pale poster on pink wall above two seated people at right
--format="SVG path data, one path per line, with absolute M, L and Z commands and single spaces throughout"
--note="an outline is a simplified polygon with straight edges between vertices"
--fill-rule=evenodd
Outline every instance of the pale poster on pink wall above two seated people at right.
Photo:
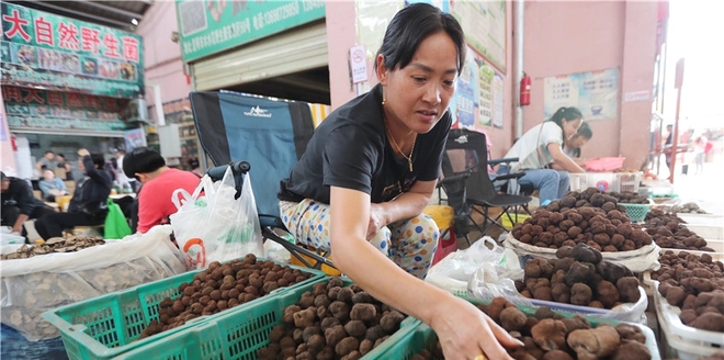
M 576 106 L 588 120 L 613 120 L 619 108 L 619 69 L 577 72 L 544 80 L 543 119 Z

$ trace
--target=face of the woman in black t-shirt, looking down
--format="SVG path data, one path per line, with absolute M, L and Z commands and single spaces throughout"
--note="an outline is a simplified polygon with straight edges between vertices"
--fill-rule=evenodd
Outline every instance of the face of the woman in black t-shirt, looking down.
M 445 32 L 423 40 L 410 64 L 388 70 L 377 58 L 377 76 L 384 86 L 385 116 L 410 131 L 425 134 L 440 121 L 455 94 L 457 48 Z

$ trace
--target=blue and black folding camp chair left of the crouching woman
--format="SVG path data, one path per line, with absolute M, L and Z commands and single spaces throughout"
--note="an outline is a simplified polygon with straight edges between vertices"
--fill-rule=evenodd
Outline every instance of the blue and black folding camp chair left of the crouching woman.
M 208 176 L 220 180 L 231 167 L 238 196 L 248 172 L 264 240 L 282 245 L 306 267 L 333 267 L 329 251 L 310 251 L 278 234 L 289 233 L 279 217 L 280 180 L 290 176 L 314 133 L 309 104 L 228 91 L 189 98 L 201 146 L 216 166 Z

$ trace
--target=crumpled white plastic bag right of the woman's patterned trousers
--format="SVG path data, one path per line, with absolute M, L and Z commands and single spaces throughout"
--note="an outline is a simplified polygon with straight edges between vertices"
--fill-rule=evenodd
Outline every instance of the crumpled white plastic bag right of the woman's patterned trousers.
M 510 279 L 522 277 L 523 270 L 516 255 L 485 236 L 470 248 L 457 250 L 433 266 L 426 281 L 456 295 L 493 299 L 497 295 L 516 296 L 518 291 Z M 484 295 L 488 290 L 490 296 Z

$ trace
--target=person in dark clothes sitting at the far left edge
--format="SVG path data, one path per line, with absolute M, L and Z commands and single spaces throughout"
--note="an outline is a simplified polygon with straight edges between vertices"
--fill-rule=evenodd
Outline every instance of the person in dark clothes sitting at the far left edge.
M 12 227 L 13 233 L 27 236 L 23 224 L 31 218 L 39 218 L 46 214 L 55 213 L 53 207 L 46 205 L 42 200 L 33 196 L 33 188 L 23 179 L 7 177 L 0 172 L 2 185 L 2 225 Z

